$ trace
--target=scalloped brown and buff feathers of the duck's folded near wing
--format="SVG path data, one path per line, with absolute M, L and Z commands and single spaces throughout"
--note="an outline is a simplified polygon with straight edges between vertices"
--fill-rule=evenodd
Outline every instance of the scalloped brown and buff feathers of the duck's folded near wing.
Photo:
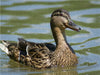
M 45 45 L 39 44 L 37 46 L 28 43 L 26 53 L 27 56 L 31 58 L 31 66 L 35 68 L 50 67 L 50 51 Z

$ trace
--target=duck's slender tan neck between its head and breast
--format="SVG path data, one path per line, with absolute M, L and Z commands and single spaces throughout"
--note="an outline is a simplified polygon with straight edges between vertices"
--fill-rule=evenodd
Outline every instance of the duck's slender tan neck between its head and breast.
M 52 27 L 53 37 L 56 42 L 56 50 L 57 52 L 66 52 L 71 51 L 75 54 L 73 48 L 67 43 L 65 29 L 60 29 L 59 27 Z

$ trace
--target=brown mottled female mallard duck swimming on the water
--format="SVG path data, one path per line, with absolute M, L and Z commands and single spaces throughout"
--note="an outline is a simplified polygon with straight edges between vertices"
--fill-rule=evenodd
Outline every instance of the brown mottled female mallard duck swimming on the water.
M 74 66 L 78 63 L 74 50 L 67 43 L 65 29 L 80 31 L 64 9 L 57 9 L 51 15 L 51 30 L 56 46 L 50 43 L 34 43 L 19 38 L 18 43 L 2 41 L 0 48 L 7 55 L 22 64 L 34 68 L 47 68 L 51 66 Z

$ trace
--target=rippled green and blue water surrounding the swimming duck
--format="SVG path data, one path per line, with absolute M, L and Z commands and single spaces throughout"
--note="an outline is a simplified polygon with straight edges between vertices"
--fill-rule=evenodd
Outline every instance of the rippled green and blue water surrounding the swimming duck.
M 66 29 L 68 42 L 78 56 L 77 67 L 36 70 L 16 63 L 0 50 L 0 75 L 99 75 L 100 1 L 99 0 L 1 0 L 0 40 L 55 44 L 50 31 L 50 14 L 57 8 L 70 11 L 82 30 Z

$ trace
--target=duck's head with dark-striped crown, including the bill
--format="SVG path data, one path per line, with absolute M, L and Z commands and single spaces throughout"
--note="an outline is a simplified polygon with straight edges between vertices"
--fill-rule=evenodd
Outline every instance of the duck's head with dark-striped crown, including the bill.
M 70 28 L 75 31 L 80 31 L 72 20 L 69 13 L 64 9 L 57 9 L 51 15 L 51 27 L 59 27 L 60 29 Z

